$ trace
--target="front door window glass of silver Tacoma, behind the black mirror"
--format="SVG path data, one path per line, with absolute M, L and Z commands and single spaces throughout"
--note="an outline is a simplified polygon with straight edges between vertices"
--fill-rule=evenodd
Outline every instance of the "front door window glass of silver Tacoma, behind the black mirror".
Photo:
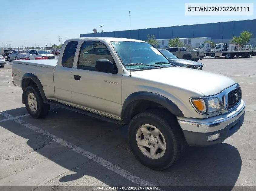
M 107 47 L 101 42 L 84 42 L 79 54 L 78 69 L 95 71 L 96 60 L 108 59 L 114 63 Z

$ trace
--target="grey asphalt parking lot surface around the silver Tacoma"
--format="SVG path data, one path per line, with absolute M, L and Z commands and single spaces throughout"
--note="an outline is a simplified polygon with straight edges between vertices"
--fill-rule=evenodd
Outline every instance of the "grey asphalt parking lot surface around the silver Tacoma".
M 0 185 L 32 186 L 29 190 L 42 185 L 256 186 L 256 56 L 198 62 L 205 71 L 239 82 L 246 103 L 244 125 L 221 144 L 189 148 L 165 171 L 135 159 L 126 126 L 53 107 L 45 119 L 33 119 L 6 62 L 0 70 Z

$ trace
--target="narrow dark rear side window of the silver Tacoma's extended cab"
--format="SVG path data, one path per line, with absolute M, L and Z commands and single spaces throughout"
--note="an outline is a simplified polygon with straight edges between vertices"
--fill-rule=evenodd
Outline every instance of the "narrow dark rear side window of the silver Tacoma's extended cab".
M 61 65 L 63 67 L 66 67 L 66 68 L 73 67 L 77 45 L 78 45 L 77 41 L 68 42 L 68 44 L 66 45 L 63 56 L 62 56 L 62 62 L 61 62 Z

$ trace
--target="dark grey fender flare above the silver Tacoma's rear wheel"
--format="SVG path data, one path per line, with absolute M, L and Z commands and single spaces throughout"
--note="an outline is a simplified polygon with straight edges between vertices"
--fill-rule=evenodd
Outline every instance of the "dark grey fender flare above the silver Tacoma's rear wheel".
M 38 89 L 39 89 L 39 92 L 42 96 L 42 99 L 43 100 L 47 100 L 46 96 L 45 96 L 45 92 L 44 92 L 44 89 L 43 89 L 43 86 L 40 82 L 40 80 L 38 79 L 38 77 L 36 77 L 36 75 L 32 74 L 32 73 L 25 73 L 21 79 L 21 88 L 23 90 L 23 93 L 22 93 L 22 103 L 24 104 L 25 103 L 25 89 L 26 89 L 26 80 L 27 79 L 32 79 L 35 84 L 37 85 Z

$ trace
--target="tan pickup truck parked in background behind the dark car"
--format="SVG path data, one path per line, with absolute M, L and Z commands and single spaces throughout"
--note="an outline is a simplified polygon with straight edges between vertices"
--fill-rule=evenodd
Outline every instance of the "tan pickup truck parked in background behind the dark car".
M 204 58 L 204 53 L 200 51 L 187 51 L 185 47 L 171 47 L 166 48 L 169 52 L 173 53 L 180 59 L 192 60 L 197 62 Z

